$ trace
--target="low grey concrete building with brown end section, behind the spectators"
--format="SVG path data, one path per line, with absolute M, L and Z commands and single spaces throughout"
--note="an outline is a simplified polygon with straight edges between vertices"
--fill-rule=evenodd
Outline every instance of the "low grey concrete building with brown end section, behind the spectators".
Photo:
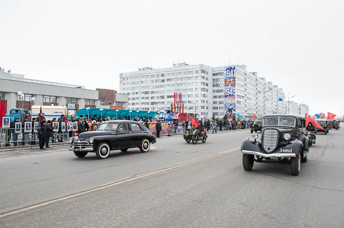
M 15 74 L 12 74 L 15 75 Z M 117 108 L 128 109 L 128 95 L 110 89 L 86 89 L 84 86 L 15 77 L 1 71 L 0 100 L 11 108 L 19 108 L 18 92 L 24 94 L 21 105 L 30 109 L 32 105 L 62 105 L 70 109 Z M 24 75 L 23 75 L 24 76 Z M 34 101 L 32 98 L 35 98 Z

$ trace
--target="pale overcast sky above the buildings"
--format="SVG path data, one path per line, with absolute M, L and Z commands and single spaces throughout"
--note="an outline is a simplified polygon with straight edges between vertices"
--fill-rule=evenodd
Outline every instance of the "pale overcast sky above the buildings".
M 119 91 L 119 73 L 244 64 L 316 112 L 343 102 L 343 1 L 0 0 L 0 67 Z M 70 96 L 70 95 L 68 95 Z M 277 98 L 278 99 L 278 98 Z

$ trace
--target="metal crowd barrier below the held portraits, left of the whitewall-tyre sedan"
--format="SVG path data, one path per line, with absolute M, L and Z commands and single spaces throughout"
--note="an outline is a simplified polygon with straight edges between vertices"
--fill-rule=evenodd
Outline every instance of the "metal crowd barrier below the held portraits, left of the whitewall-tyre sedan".
M 49 140 L 54 142 L 68 142 L 69 132 L 54 131 Z M 21 146 L 38 145 L 37 128 L 0 128 L 0 145 Z

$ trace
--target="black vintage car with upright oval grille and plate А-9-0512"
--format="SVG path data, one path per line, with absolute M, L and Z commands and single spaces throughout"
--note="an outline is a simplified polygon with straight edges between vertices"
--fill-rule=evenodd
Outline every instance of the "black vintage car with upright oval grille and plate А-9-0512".
M 307 162 L 309 153 L 305 127 L 305 118 L 301 115 L 265 115 L 260 142 L 256 140 L 256 132 L 252 133 L 253 139 L 241 142 L 244 169 L 251 170 L 254 162 L 290 164 L 291 174 L 299 175 L 300 161 Z

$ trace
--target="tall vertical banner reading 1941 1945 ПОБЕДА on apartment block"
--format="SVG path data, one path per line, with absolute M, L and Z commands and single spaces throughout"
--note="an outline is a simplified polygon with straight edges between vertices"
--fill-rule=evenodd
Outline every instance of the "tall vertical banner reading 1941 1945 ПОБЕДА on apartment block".
M 235 115 L 235 66 L 225 67 L 225 115 Z

